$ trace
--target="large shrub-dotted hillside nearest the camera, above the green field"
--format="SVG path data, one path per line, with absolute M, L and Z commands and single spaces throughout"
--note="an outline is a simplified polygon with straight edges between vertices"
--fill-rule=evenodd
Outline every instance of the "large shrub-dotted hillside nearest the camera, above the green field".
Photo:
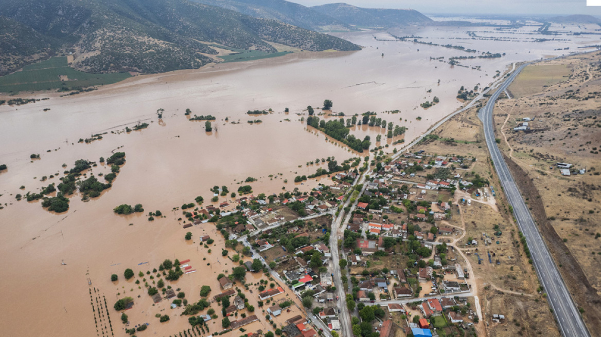
M 0 46 L 15 45 L 0 74 L 23 65 L 15 59 L 35 61 L 52 52 L 73 52 L 73 66 L 89 72 L 160 73 L 212 62 L 217 52 L 207 43 L 264 52 L 276 52 L 266 41 L 305 50 L 359 49 L 330 35 L 188 0 L 0 0 L 0 8 L 4 22 L 23 28 L 0 35 Z M 44 48 L 43 41 L 53 44 Z

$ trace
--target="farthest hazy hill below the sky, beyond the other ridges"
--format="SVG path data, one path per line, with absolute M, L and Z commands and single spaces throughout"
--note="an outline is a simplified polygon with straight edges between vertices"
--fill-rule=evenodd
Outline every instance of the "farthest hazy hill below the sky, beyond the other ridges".
M 432 23 L 416 10 L 361 8 L 349 4 L 326 4 L 311 7 L 322 14 L 355 26 L 406 26 Z

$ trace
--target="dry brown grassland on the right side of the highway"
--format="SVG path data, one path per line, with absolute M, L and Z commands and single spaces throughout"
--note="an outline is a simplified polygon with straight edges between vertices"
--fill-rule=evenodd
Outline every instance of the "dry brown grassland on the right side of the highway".
M 502 151 L 517 165 L 512 169 L 514 177 L 519 171 L 526 174 L 517 174 L 517 179 L 523 179 L 520 188 L 526 203 L 592 331 L 601 327 L 601 53 L 543 64 L 537 67 L 549 71 L 538 71 L 534 77 L 552 84 L 499 101 L 495 127 Z M 569 70 L 569 75 L 557 81 L 559 69 Z M 522 88 L 531 83 L 529 73 L 517 77 L 510 87 L 514 94 L 514 85 Z M 514 131 L 523 118 L 534 119 L 529 130 Z M 562 175 L 557 163 L 573 164 L 570 176 Z M 582 169 L 584 174 L 579 174 Z

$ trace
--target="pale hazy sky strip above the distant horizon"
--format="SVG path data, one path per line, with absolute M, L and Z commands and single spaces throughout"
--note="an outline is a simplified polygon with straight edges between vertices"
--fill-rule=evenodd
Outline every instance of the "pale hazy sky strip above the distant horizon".
M 305 6 L 346 2 L 359 7 L 411 8 L 423 13 L 486 14 L 590 14 L 601 16 L 601 7 L 586 0 L 288 0 Z

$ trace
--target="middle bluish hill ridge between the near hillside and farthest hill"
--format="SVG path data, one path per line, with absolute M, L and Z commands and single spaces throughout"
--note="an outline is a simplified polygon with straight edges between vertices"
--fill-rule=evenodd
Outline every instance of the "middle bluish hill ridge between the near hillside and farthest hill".
M 323 29 L 349 29 L 349 26 L 334 18 L 285 0 L 192 0 L 201 4 L 234 10 L 252 17 L 279 20 L 290 25 L 313 31 Z

